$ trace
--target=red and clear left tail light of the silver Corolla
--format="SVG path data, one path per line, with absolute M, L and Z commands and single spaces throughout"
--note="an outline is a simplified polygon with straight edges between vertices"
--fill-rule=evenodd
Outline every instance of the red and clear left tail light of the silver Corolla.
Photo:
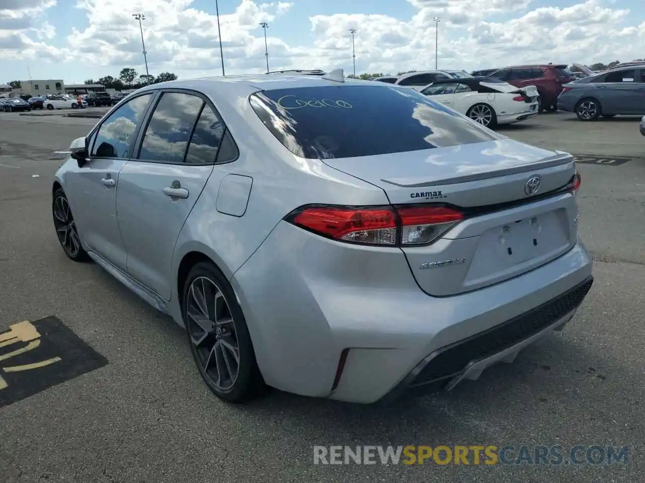
M 339 242 L 389 247 L 428 245 L 463 219 L 461 211 L 439 205 L 308 205 L 285 218 L 293 225 Z

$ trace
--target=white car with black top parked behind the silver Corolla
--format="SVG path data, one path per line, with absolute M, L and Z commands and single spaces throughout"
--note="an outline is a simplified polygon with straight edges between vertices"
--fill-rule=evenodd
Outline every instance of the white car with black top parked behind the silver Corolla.
M 484 82 L 471 77 L 433 82 L 421 93 L 487 128 L 519 122 L 537 116 L 539 111 L 539 94 L 535 86 L 517 88 L 508 82 Z

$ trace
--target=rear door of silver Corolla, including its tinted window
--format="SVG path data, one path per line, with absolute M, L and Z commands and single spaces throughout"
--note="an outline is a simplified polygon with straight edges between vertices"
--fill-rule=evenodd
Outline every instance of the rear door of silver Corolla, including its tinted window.
M 164 90 L 139 135 L 135 159 L 119 175 L 117 213 L 128 274 L 166 300 L 175 242 L 213 171 L 223 132 L 204 97 Z

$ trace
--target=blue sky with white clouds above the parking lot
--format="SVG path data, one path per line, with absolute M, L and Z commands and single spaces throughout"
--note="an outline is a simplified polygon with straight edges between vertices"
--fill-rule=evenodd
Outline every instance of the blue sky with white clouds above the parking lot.
M 609 62 L 645 57 L 643 0 L 219 0 L 226 73 L 260 72 L 269 24 L 272 70 L 357 72 L 494 68 L 519 62 Z M 145 73 L 219 75 L 215 0 L 0 0 L 0 83 L 83 82 Z

